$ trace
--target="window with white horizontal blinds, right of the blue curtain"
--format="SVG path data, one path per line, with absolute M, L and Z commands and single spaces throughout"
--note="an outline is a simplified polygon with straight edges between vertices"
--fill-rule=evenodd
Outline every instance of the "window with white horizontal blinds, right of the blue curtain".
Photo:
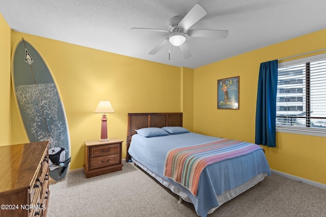
M 326 54 L 279 63 L 277 128 L 326 133 Z

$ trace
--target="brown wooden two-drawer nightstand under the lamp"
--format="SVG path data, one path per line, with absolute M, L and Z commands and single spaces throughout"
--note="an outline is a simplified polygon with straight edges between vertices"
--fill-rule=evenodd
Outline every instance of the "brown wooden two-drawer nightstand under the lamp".
M 85 141 L 84 172 L 86 178 L 122 170 L 122 140 Z

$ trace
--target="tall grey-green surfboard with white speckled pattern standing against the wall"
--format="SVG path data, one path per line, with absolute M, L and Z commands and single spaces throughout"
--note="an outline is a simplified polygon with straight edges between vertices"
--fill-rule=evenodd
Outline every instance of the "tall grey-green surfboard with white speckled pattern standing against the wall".
M 49 176 L 55 182 L 65 180 L 71 152 L 64 106 L 43 58 L 24 39 L 13 52 L 12 80 L 30 142 L 49 141 Z

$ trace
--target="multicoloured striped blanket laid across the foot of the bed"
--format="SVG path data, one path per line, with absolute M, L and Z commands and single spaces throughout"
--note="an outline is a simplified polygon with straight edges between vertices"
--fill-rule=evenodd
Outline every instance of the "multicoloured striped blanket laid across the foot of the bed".
M 167 153 L 164 176 L 181 183 L 196 196 L 200 174 L 206 166 L 258 149 L 262 148 L 256 144 L 231 139 L 175 148 Z

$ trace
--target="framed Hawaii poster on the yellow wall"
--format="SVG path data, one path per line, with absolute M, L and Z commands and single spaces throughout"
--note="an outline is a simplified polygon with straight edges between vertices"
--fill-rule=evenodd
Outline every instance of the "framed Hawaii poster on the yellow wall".
M 218 109 L 239 109 L 239 76 L 218 80 Z

